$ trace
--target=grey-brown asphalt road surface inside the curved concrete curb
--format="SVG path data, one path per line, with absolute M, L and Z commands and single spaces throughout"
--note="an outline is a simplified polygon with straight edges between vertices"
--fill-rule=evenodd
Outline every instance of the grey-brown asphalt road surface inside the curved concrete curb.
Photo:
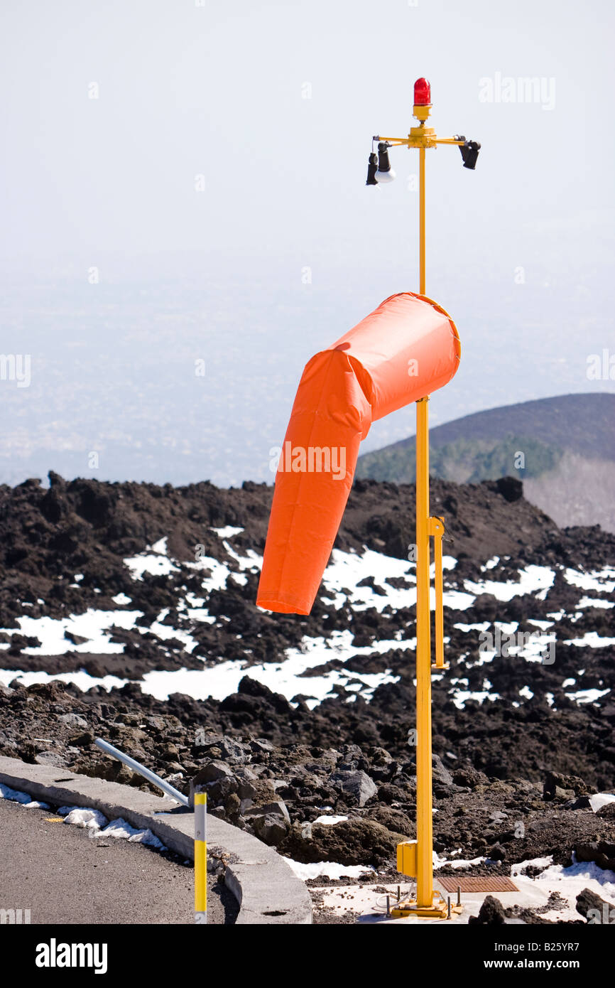
M 53 816 L 0 798 L 0 909 L 30 909 L 33 924 L 193 923 L 192 866 Z M 210 879 L 208 923 L 233 922 L 223 900 Z

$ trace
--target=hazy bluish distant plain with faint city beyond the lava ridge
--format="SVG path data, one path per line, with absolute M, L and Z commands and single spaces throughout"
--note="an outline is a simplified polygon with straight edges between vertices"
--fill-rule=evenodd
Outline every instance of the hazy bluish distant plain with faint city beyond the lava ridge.
M 30 379 L 26 386 L 20 365 L 11 374 L 5 362 L 0 481 L 44 480 L 53 469 L 175 485 L 272 482 L 270 451 L 283 439 L 304 364 L 405 288 L 386 271 L 357 272 L 340 288 L 335 271 L 312 285 L 298 264 L 272 270 L 95 285 L 84 274 L 11 288 L 2 350 L 29 357 Z M 587 298 L 604 290 L 599 272 L 576 279 L 551 287 L 534 271 L 522 286 L 479 275 L 435 284 L 457 321 L 462 363 L 431 402 L 433 426 L 537 397 L 615 390 L 608 372 L 587 375 L 609 339 L 606 315 L 587 317 Z M 592 311 L 608 311 L 594 302 Z M 375 423 L 362 452 L 413 433 L 406 409 Z

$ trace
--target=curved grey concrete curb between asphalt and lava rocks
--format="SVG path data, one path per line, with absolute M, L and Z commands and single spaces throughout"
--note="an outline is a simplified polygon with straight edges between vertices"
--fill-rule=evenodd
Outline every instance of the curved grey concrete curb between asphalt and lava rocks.
M 193 814 L 184 808 L 174 812 L 177 803 L 166 796 L 16 758 L 0 757 L 0 782 L 57 806 L 92 806 L 110 820 L 121 816 L 133 827 L 148 827 L 172 851 L 193 858 Z M 214 816 L 207 817 L 207 843 L 236 859 L 227 864 L 225 881 L 239 902 L 237 924 L 312 922 L 306 886 L 274 848 Z

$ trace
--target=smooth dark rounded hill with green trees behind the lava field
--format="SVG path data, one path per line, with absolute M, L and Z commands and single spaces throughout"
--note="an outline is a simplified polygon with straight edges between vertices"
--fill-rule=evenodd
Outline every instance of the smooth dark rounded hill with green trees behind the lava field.
M 505 405 L 430 431 L 429 469 L 457 483 L 513 475 L 559 525 L 615 532 L 615 394 L 566 394 Z M 358 477 L 409 483 L 415 438 L 360 456 Z

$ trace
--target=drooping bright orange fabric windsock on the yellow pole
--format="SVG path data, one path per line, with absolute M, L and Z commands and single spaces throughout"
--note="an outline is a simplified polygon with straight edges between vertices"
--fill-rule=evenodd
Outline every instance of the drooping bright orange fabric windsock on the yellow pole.
M 450 316 L 408 291 L 391 295 L 305 366 L 275 476 L 260 608 L 310 613 L 360 441 L 376 419 L 446 384 L 459 357 Z

